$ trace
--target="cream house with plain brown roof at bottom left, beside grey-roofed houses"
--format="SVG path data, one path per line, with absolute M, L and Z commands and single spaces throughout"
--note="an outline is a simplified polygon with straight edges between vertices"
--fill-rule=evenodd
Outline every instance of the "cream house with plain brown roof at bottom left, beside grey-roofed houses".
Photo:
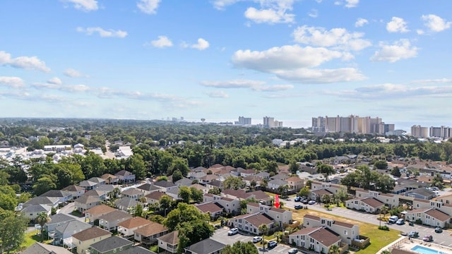
M 86 250 L 90 249 L 91 244 L 97 243 L 111 236 L 112 232 L 94 226 L 90 229 L 80 231 L 77 234 L 73 234 L 72 238 L 73 243 L 77 248 L 77 253 L 82 254 L 87 253 Z

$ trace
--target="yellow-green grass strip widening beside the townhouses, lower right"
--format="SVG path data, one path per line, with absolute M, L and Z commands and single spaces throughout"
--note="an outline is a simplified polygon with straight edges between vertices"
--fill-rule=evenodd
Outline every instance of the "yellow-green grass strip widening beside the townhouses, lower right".
M 379 230 L 378 225 L 358 222 L 352 219 L 347 219 L 344 217 L 337 217 L 324 212 L 318 212 L 314 210 L 292 210 L 292 217 L 294 220 L 302 223 L 304 214 L 311 214 L 314 216 L 337 219 L 340 222 L 347 222 L 350 224 L 355 224 L 359 226 L 359 234 L 362 236 L 367 236 L 370 238 L 370 245 L 367 248 L 358 250 L 356 253 L 359 254 L 374 254 L 379 251 L 384 246 L 389 243 L 396 241 L 399 238 L 400 231 L 391 229 L 390 231 Z

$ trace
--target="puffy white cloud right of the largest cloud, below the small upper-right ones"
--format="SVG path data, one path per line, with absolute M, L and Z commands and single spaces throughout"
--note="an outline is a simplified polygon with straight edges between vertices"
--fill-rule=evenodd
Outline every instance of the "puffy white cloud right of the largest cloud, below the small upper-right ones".
M 371 57 L 371 61 L 388 61 L 390 63 L 410 59 L 417 56 L 419 48 L 410 44 L 409 40 L 402 39 L 394 42 L 394 44 L 380 43 L 380 50 L 375 52 Z

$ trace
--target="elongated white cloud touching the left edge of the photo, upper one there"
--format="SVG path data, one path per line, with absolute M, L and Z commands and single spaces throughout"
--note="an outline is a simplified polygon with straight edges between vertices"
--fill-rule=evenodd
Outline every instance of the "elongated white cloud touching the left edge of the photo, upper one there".
M 23 68 L 25 70 L 50 71 L 50 68 L 45 65 L 44 61 L 38 59 L 37 56 L 18 56 L 11 58 L 11 54 L 4 51 L 0 52 L 0 65 Z

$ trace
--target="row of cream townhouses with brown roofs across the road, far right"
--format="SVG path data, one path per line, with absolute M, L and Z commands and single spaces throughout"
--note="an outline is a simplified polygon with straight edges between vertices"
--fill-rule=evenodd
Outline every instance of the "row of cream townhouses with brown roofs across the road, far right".
M 444 195 L 427 200 L 407 195 L 357 189 L 356 198 L 345 201 L 345 206 L 376 213 L 384 205 L 392 208 L 406 203 L 410 204 L 412 208 L 405 214 L 405 219 L 407 220 L 419 220 L 422 224 L 428 226 L 449 227 L 451 224 L 452 195 Z

